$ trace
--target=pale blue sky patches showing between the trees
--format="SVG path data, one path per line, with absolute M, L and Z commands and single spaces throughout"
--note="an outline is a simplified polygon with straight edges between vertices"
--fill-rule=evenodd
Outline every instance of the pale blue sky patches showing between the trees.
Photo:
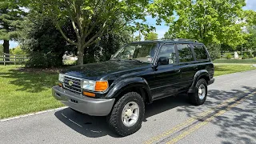
M 244 10 L 255 10 L 256 11 L 256 0 L 246 0 L 246 6 L 244 7 Z M 166 31 L 168 31 L 168 29 L 169 29 L 168 26 L 165 26 L 164 22 L 162 22 L 161 26 L 156 26 L 155 18 L 152 18 L 150 16 L 146 17 L 146 22 L 150 26 L 154 26 L 156 28 L 156 33 L 158 34 L 158 38 L 163 38 Z M 138 32 L 136 32 L 134 35 L 137 36 Z M 143 36 L 142 36 L 142 39 L 144 39 Z M 0 44 L 2 44 L 2 41 L 0 41 Z M 14 48 L 16 46 L 18 46 L 18 42 L 14 42 L 14 41 L 10 42 L 10 48 Z

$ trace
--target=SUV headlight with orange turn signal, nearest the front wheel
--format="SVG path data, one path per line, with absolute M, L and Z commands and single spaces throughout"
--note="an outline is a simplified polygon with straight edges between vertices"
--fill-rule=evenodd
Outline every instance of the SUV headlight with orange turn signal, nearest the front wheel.
M 107 81 L 91 81 L 91 80 L 83 80 L 81 88 L 85 90 L 92 90 L 92 91 L 104 91 L 108 88 Z

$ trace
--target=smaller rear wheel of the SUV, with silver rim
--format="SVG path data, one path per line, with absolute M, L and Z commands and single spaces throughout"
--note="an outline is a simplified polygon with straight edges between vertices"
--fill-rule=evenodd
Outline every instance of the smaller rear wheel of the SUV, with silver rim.
M 189 94 L 190 102 L 196 106 L 202 105 L 206 102 L 207 97 L 207 83 L 205 79 L 199 79 L 194 86 L 194 93 Z

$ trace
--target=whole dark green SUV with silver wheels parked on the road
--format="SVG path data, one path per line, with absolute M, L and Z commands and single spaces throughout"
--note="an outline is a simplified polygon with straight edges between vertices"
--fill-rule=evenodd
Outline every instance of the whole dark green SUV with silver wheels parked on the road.
M 214 82 L 206 46 L 186 39 L 131 42 L 107 62 L 72 66 L 59 74 L 52 93 L 72 110 L 107 116 L 118 134 L 142 126 L 145 104 L 180 93 L 202 105 Z

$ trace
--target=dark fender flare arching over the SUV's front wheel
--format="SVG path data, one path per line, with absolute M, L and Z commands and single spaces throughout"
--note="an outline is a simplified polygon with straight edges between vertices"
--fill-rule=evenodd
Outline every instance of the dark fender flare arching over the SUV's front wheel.
M 117 98 L 122 91 L 130 88 L 130 87 L 142 87 L 146 92 L 146 98 L 148 102 L 152 102 L 152 96 L 150 92 L 150 87 L 146 79 L 140 77 L 127 78 L 120 82 L 118 82 L 112 89 L 106 94 L 106 98 Z

